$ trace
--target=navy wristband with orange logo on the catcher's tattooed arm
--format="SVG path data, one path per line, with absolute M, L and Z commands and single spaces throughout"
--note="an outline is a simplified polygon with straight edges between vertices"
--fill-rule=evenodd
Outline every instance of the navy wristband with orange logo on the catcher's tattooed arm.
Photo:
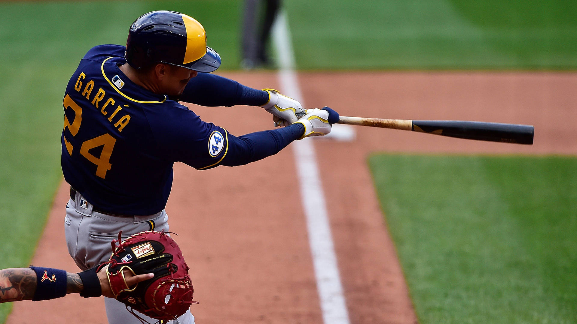
M 66 296 L 66 271 L 31 266 L 36 272 L 36 292 L 34 302 Z

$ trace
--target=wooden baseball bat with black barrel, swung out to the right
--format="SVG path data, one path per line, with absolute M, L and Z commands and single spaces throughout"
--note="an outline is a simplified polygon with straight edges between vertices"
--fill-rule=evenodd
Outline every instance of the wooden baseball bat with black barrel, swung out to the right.
M 410 120 L 340 116 L 339 124 L 418 131 L 467 140 L 533 144 L 532 125 L 471 122 L 468 120 Z

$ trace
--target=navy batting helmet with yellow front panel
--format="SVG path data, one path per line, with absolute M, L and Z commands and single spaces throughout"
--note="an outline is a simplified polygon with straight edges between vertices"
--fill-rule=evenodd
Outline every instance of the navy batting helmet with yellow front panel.
M 133 22 L 124 56 L 136 69 L 167 63 L 212 72 L 220 66 L 220 55 L 207 46 L 203 25 L 186 14 L 167 10 L 149 12 Z

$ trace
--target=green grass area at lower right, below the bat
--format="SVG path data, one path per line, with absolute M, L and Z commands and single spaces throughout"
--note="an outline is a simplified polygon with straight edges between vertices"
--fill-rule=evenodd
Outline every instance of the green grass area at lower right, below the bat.
M 577 159 L 369 160 L 419 323 L 577 322 Z

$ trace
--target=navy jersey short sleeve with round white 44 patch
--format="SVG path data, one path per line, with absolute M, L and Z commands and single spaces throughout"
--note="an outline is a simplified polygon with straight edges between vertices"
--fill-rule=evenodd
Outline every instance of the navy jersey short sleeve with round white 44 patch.
M 216 167 L 228 152 L 228 132 L 175 104 L 147 114 L 159 153 L 196 169 Z

